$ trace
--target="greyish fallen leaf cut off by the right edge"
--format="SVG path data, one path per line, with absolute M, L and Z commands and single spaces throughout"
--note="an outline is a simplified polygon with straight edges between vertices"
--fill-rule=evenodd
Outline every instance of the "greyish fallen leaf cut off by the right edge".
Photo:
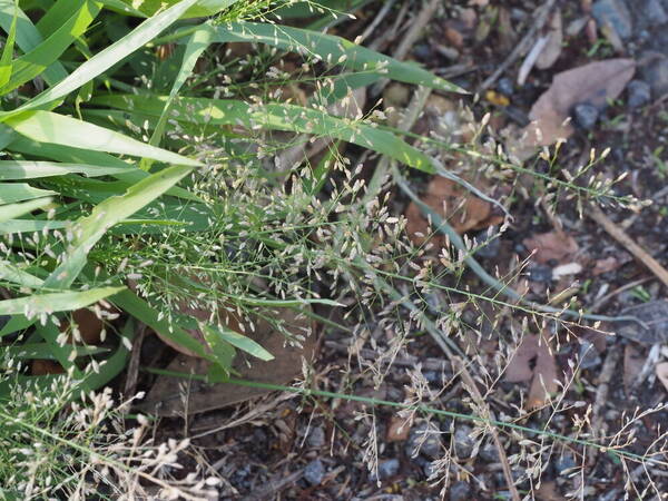
M 638 322 L 617 322 L 611 331 L 640 344 L 668 343 L 668 301 L 658 299 L 623 310 L 620 315 L 635 316 Z

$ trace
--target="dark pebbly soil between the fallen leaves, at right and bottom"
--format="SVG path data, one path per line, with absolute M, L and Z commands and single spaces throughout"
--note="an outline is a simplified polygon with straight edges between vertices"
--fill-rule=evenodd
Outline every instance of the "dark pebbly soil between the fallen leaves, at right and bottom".
M 354 39 L 373 21 L 382 3 L 369 3 L 357 12 L 356 20 L 336 27 L 335 31 Z M 441 75 L 461 72 L 451 77 L 451 80 L 475 91 L 522 39 L 533 22 L 536 8 L 542 2 L 461 0 L 444 3 L 446 6 L 430 21 L 409 58 Z M 518 86 L 515 79 L 523 57 L 519 58 L 492 86 L 495 95 L 483 94 L 478 101 L 465 98 L 466 105 L 479 119 L 491 112 L 490 137 L 502 140 L 501 131 L 508 126 L 524 126 L 532 104 L 558 72 L 592 60 L 620 56 L 635 58 L 642 65 L 647 51 L 657 50 L 655 38 L 660 29 L 664 29 L 664 33 L 668 32 L 665 26 L 647 26 L 647 19 L 639 20 L 646 13 L 633 11 L 633 31 L 629 38 L 621 40 L 620 48 L 616 48 L 600 30 L 591 29 L 593 18 L 588 13 L 590 1 L 564 0 L 557 3 L 567 31 L 557 61 L 550 68 L 533 68 L 527 82 Z M 407 4 L 407 16 L 402 26 L 406 27 L 422 2 L 396 2 L 392 14 L 374 31 L 376 36 L 391 29 L 404 4 Z M 665 8 L 668 11 L 668 6 Z M 572 27 L 577 23 L 581 23 L 582 28 L 574 32 Z M 569 32 L 569 28 L 572 31 Z M 395 39 L 381 43 L 380 50 L 392 53 L 402 33 L 405 31 L 400 30 Z M 666 47 L 664 45 L 658 49 Z M 461 65 L 465 65 L 465 71 L 456 71 Z M 640 66 L 638 75 L 655 89 L 659 88 L 660 82 L 656 81 L 659 77 L 649 75 L 645 66 Z M 505 99 L 499 99 L 499 96 Z M 454 96 L 444 97 L 452 101 L 456 99 Z M 637 108 L 629 107 L 628 95 L 609 104 L 600 110 L 591 130 L 576 129 L 559 154 L 559 169 L 576 173 L 582 159 L 588 160 L 590 148 L 595 147 L 597 151 L 611 148 L 609 156 L 598 163 L 593 171 L 608 178 L 626 175 L 615 188 L 617 195 L 651 199 L 652 204 L 637 212 L 608 206 L 606 213 L 655 258 L 668 265 L 668 191 L 664 189 L 668 176 L 668 156 L 664 150 L 667 146 L 668 100 L 665 97 L 652 91 L 650 100 Z M 367 98 L 367 102 L 373 102 L 373 99 Z M 347 154 L 356 155 L 357 150 L 348 149 Z M 550 167 L 543 160 L 530 160 L 525 168 L 540 173 Z M 528 297 L 541 303 L 551 297 L 554 291 L 567 288 L 573 281 L 580 284 L 577 305 L 580 307 L 590 308 L 608 294 L 621 289 L 596 312 L 612 316 L 630 306 L 666 297 L 665 286 L 586 213 L 581 217 L 577 205 L 567 199 L 566 194 L 558 194 L 553 214 L 549 215 L 546 210 L 548 205 L 541 205 L 538 200 L 541 194 L 544 195 L 541 191 L 543 187 L 524 177 L 518 176 L 510 193 L 499 180 L 490 186 L 491 194 L 513 197 L 510 206 L 513 219 L 508 230 L 493 244 L 492 252 L 485 253 L 483 249 L 478 254 L 479 262 L 487 269 L 511 272 L 512 263 L 527 259 L 527 266 L 519 272 L 514 285 L 520 287 L 524 284 Z M 413 181 L 424 190 L 429 179 L 418 176 Z M 499 183 L 499 186 L 494 187 L 493 183 Z M 396 214 L 403 214 L 406 206 L 407 200 L 396 194 L 393 203 Z M 564 234 L 574 239 L 577 252 L 563 262 L 551 258 L 540 263 L 531 257 L 527 240 L 539 234 L 554 232 L 556 224 L 560 224 Z M 484 229 L 472 229 L 469 236 L 481 237 L 485 233 Z M 578 263 L 582 271 L 574 277 L 553 279 L 556 268 L 571 262 Z M 638 282 L 638 285 L 623 288 L 632 282 Z M 448 285 L 485 292 L 485 286 L 471 272 L 455 284 Z M 451 294 L 444 299 L 445 304 L 452 304 L 462 301 L 462 296 Z M 320 313 L 331 314 L 327 311 Z M 481 317 L 487 320 L 477 326 Z M 498 372 L 495 356 L 504 343 L 510 342 L 513 330 L 521 328 L 521 318 L 513 317 L 508 308 L 489 303 L 481 305 L 480 310 L 468 305 L 463 318 L 471 328 L 464 340 L 466 342 L 459 343 L 470 356 L 475 357 L 474 373 L 480 389 L 493 385 L 493 390 L 484 396 L 500 419 L 512 416 L 513 422 L 522 426 L 539 430 L 549 425 L 556 433 L 596 440 L 588 434 L 590 425 L 593 433 L 612 436 L 627 419 L 625 413 L 629 416 L 637 407 L 655 407 L 666 400 L 667 389 L 652 376 L 654 365 L 661 356 L 666 357 L 666 343 L 661 352 L 660 345 L 652 347 L 628 337 L 600 335 L 591 328 L 572 327 L 560 330 L 556 337 L 559 343 L 552 346 L 557 367 L 564 374 L 562 381 L 570 382 L 564 400 L 559 403 L 561 410 L 553 413 L 547 405 L 527 412 L 528 381 L 511 383 L 502 377 L 498 382 L 492 381 Z M 373 322 L 376 322 L 376 328 L 373 328 Z M 445 411 L 472 412 L 470 393 L 453 376 L 450 362 L 438 345 L 421 332 L 411 333 L 407 347 L 396 356 L 382 383 L 376 384 L 373 367 L 387 366 L 377 362 L 381 356 L 390 357 L 392 340 L 391 331 L 377 327 L 377 318 L 372 318 L 370 327 L 370 340 L 360 351 L 351 350 L 350 332 L 337 332 L 325 326 L 317 328 L 320 350 L 310 381 L 312 387 L 403 402 L 412 395 L 410 389 L 415 385 L 414 373 L 420 373 L 426 382 L 424 402 Z M 582 353 L 582 346 L 587 346 L 593 352 L 586 358 L 587 364 L 582 363 L 579 370 L 573 371 L 569 369 L 569 361 Z M 171 353 L 169 348 L 165 350 Z M 606 363 L 608 361 L 610 365 L 612 360 L 618 360 L 618 363 L 613 365 L 613 371 L 606 374 Z M 536 358 L 532 358 L 530 371 L 536 370 Z M 649 369 L 642 377 L 638 374 L 638 367 L 647 364 Z M 150 377 L 144 375 L 139 386 L 149 387 L 151 384 Z M 607 391 L 602 401 L 597 403 L 603 385 Z M 595 411 L 584 416 L 587 405 L 593 405 Z M 262 409 L 262 412 L 253 413 L 257 409 Z M 230 424 L 235 421 L 240 424 Z M 648 448 L 655 452 L 664 451 L 662 442 L 652 445 L 652 441 L 659 438 L 659 429 L 661 424 L 665 428 L 666 422 L 666 410 L 648 413 L 635 420 L 619 439 L 625 441 L 628 433 L 633 432 L 636 440 L 628 445 L 629 451 L 638 454 L 645 454 Z M 489 433 L 472 435 L 475 423 L 416 414 L 404 429 L 401 429 L 401 424 L 396 409 L 374 409 L 358 402 L 272 393 L 234 409 L 190 416 L 185 422 L 178 418 L 164 419 L 158 426 L 158 438 L 181 436 L 184 430 L 188 430 L 200 454 L 193 458 L 189 465 L 202 468 L 207 464 L 213 469 L 209 472 L 215 470 L 225 479 L 220 499 L 510 499 L 499 453 Z M 420 431 L 424 430 L 435 433 L 429 435 L 429 440 L 415 452 Z M 649 485 L 641 466 L 629 463 L 628 471 L 625 471 L 611 454 L 559 441 L 547 441 L 546 448 L 540 450 L 541 440 L 538 436 L 525 435 L 531 443 L 520 444 L 518 433 L 500 430 L 500 435 L 505 453 L 517 460 L 511 466 L 520 495 L 560 500 L 576 492 L 581 499 L 618 500 L 625 497 L 626 481 L 630 477 L 638 489 L 638 492 L 631 491 L 630 495 L 637 499 L 639 492 Z M 365 455 L 369 441 L 375 441 L 377 477 L 375 471 L 370 471 Z M 524 453 L 528 453 L 528 459 L 521 458 Z M 434 462 L 438 463 L 442 458 L 451 458 L 452 464 L 428 480 L 439 470 Z M 666 453 L 659 453 L 657 459 L 665 461 Z M 536 465 L 543 469 L 541 485 L 525 474 L 529 466 Z M 668 479 L 665 471 L 657 472 L 652 466 L 649 470 L 656 489 L 650 489 L 642 498 L 658 499 L 658 493 L 668 492 Z

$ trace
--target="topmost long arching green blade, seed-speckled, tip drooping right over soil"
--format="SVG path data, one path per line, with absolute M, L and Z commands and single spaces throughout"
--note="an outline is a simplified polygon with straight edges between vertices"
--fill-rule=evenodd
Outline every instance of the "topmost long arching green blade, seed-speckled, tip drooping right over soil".
M 341 63 L 356 71 L 376 71 L 384 77 L 448 92 L 468 94 L 462 88 L 435 77 L 416 65 L 383 56 L 344 38 L 285 26 L 232 22 L 216 27 L 214 41 L 265 43 L 278 49 L 317 57 L 328 63 Z

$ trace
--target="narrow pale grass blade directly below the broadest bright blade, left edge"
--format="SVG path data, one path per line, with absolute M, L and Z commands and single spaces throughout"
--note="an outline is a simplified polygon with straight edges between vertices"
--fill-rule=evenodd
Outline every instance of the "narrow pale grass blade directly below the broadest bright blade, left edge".
M 36 179 L 41 177 L 84 174 L 87 177 L 109 176 L 131 170 L 127 167 L 100 167 L 97 165 L 60 164 L 56 161 L 0 160 L 0 180 Z

